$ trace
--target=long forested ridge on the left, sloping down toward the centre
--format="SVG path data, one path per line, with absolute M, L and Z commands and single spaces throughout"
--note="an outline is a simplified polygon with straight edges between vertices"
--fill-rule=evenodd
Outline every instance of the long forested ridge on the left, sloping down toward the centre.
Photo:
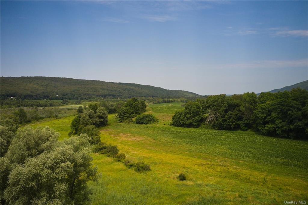
M 21 99 L 87 99 L 94 97 L 199 97 L 193 92 L 150 85 L 59 77 L 1 77 L 1 97 Z

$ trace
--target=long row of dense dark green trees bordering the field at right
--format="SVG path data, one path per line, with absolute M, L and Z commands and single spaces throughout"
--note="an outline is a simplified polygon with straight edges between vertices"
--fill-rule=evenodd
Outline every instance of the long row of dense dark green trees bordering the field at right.
M 270 93 L 208 96 L 186 103 L 172 117 L 172 125 L 214 129 L 252 129 L 258 133 L 308 139 L 308 92 L 301 88 Z

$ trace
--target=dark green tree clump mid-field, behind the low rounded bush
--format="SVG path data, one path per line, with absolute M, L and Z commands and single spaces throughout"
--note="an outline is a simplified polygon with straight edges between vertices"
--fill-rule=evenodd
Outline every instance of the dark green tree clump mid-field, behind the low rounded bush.
M 132 121 L 133 117 L 144 113 L 147 105 L 143 100 L 132 98 L 127 100 L 123 107 L 118 111 L 117 118 L 119 122 Z

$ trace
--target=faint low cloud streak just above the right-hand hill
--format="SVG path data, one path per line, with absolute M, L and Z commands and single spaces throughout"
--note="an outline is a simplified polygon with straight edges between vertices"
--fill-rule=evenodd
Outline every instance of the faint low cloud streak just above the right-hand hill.
M 305 68 L 308 67 L 308 59 L 297 60 L 259 60 L 239 64 L 223 64 L 217 68 Z

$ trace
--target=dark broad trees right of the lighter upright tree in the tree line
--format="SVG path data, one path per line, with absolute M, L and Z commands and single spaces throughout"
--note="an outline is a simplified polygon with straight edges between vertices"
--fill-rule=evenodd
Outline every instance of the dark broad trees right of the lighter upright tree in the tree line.
M 308 139 L 308 92 L 261 93 L 254 112 L 256 129 L 262 134 Z

